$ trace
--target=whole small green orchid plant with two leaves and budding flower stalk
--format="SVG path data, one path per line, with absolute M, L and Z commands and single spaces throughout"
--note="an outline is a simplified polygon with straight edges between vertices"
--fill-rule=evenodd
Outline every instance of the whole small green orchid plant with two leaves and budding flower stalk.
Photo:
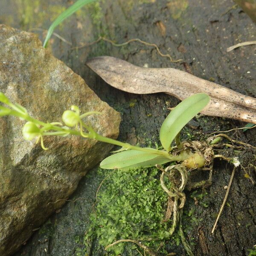
M 185 99 L 167 116 L 166 120 L 160 129 L 160 141 L 163 148 L 166 150 L 157 150 L 154 148 L 141 148 L 123 143 L 118 140 L 103 137 L 96 133 L 92 126 L 86 122 L 86 117 L 93 114 L 100 114 L 96 111 L 87 113 L 80 113 L 77 106 L 71 106 L 71 110 L 64 111 L 62 121 L 60 122 L 45 123 L 32 116 L 29 116 L 26 109 L 18 104 L 13 104 L 9 99 L 0 92 L 0 116 L 17 116 L 20 119 L 26 120 L 23 126 L 23 137 L 25 140 L 41 141 L 41 147 L 45 150 L 44 146 L 45 136 L 68 136 L 76 135 L 88 139 L 99 140 L 113 145 L 119 145 L 122 148 L 114 151 L 116 154 L 107 157 L 100 163 L 103 169 L 132 169 L 135 167 L 150 167 L 156 164 L 164 164 L 172 161 L 189 160 L 191 157 L 195 159 L 195 153 L 180 149 L 178 154 L 171 154 L 171 143 L 177 136 L 180 130 L 192 119 L 199 111 L 201 111 L 209 102 L 210 98 L 205 93 L 198 93 Z M 85 121 L 84 121 L 85 119 Z M 178 141 L 178 140 L 176 140 Z M 198 156 L 197 156 L 198 157 Z M 200 159 L 204 164 L 204 159 Z

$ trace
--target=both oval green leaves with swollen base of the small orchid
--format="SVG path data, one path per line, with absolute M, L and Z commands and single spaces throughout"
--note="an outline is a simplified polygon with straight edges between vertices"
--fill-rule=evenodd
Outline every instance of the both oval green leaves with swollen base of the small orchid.
M 164 120 L 160 129 L 160 141 L 163 148 L 168 153 L 166 155 L 157 156 L 154 152 L 151 154 L 141 154 L 139 151 L 119 152 L 107 157 L 100 163 L 103 169 L 131 169 L 135 167 L 149 167 L 156 164 L 168 163 L 171 161 L 183 161 L 192 155 L 186 151 L 180 151 L 180 154 L 172 156 L 170 154 L 172 141 L 179 136 L 180 130 L 189 122 L 196 114 L 198 114 L 208 103 L 210 97 L 205 93 L 194 94 L 180 102 Z M 127 150 L 127 148 L 122 148 Z

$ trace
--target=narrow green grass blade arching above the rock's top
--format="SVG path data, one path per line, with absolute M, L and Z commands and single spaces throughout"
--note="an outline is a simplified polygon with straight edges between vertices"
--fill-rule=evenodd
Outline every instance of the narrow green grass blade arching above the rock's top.
M 47 43 L 48 43 L 49 39 L 51 38 L 52 33 L 53 33 L 54 29 L 56 28 L 56 26 L 58 26 L 63 20 L 65 20 L 70 15 L 72 15 L 74 12 L 81 9 L 81 7 L 83 7 L 85 4 L 92 3 L 94 1 L 95 0 L 78 0 L 78 1 L 76 1 L 76 3 L 74 3 L 72 6 L 70 6 L 66 11 L 62 12 L 61 15 L 59 15 L 56 18 L 56 20 L 53 21 L 52 25 L 49 27 L 46 38 L 44 40 L 43 47 L 45 47 L 45 48 L 47 47 Z

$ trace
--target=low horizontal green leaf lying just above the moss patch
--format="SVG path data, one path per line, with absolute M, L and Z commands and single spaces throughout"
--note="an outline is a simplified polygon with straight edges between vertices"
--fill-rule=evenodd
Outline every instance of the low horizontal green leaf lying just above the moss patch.
M 151 167 L 156 164 L 168 163 L 171 160 L 159 154 L 128 150 L 113 154 L 105 158 L 101 163 L 102 169 L 128 170 L 136 167 Z

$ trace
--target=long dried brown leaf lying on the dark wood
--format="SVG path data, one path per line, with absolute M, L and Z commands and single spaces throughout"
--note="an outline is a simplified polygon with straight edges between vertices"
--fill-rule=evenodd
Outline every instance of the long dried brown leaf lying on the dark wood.
M 108 84 L 129 93 L 164 92 L 180 100 L 195 93 L 207 93 L 211 96 L 211 101 L 201 113 L 256 124 L 255 98 L 184 71 L 174 68 L 137 67 L 109 56 L 93 58 L 87 65 Z

